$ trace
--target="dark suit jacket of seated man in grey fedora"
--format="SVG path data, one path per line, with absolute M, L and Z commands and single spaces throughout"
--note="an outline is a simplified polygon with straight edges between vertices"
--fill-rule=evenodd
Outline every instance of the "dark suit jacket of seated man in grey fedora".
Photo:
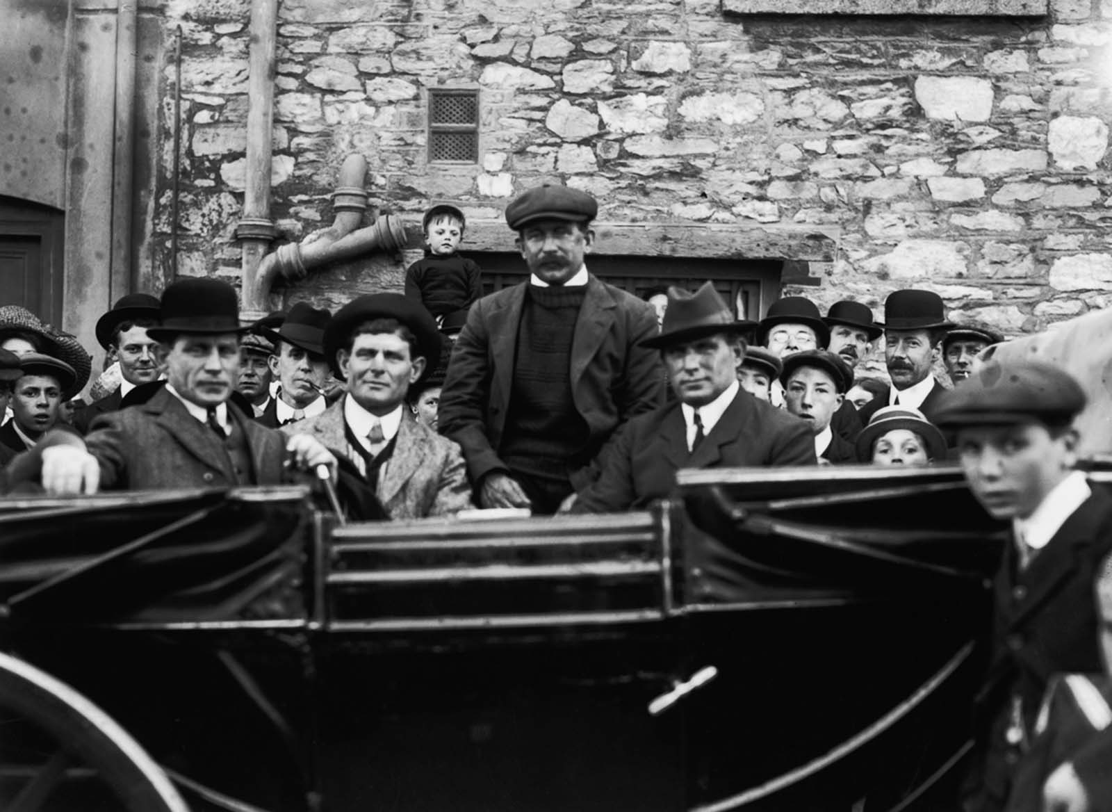
M 602 475 L 579 492 L 574 512 L 644 507 L 672 493 L 679 468 L 814 465 L 815 439 L 811 424 L 742 389 L 694 452 L 674 403 L 632 419 L 602 462 Z

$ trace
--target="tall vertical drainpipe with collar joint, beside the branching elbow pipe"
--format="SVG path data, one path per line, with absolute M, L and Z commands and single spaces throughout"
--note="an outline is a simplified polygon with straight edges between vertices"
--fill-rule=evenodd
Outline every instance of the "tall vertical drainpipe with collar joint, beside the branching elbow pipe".
M 278 33 L 278 0 L 251 0 L 247 108 L 247 188 L 244 214 L 236 227 L 242 246 L 244 310 L 257 310 L 247 300 L 256 287 L 259 263 L 275 238 L 270 219 L 270 157 L 274 130 L 275 58 Z M 247 315 L 244 314 L 247 318 Z

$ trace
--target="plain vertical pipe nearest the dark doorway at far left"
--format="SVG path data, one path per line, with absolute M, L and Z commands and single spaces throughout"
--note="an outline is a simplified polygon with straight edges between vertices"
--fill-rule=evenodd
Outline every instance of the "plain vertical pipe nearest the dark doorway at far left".
M 136 289 L 138 267 L 131 256 L 131 204 L 135 190 L 135 100 L 138 52 L 138 0 L 116 3 L 116 101 L 112 139 L 112 234 L 107 306 Z

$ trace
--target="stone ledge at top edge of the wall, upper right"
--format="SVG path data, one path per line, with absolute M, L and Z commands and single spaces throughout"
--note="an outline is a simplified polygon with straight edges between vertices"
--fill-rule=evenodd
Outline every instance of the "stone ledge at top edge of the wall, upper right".
M 727 14 L 1043 17 L 1050 0 L 722 0 Z

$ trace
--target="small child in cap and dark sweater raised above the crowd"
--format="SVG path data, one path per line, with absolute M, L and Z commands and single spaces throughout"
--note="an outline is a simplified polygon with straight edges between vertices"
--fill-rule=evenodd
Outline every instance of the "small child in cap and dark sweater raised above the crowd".
M 444 317 L 466 311 L 483 296 L 481 270 L 456 254 L 467 221 L 455 206 L 434 206 L 425 212 L 425 258 L 406 270 L 406 296 L 419 299 L 439 327 Z

